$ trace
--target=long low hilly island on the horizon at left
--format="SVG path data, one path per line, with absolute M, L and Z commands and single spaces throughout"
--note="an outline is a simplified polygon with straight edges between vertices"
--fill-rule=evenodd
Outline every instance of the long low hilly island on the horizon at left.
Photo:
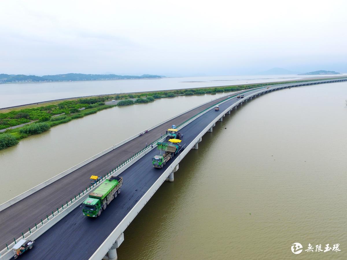
M 59 75 L 45 75 L 42 77 L 34 75 L 8 75 L 0 74 L 0 83 L 14 82 L 49 82 L 49 81 L 76 81 L 76 80 L 109 80 L 109 79 L 148 79 L 165 78 L 165 76 L 144 74 L 141 76 L 121 76 L 115 74 L 81 74 L 68 73 Z

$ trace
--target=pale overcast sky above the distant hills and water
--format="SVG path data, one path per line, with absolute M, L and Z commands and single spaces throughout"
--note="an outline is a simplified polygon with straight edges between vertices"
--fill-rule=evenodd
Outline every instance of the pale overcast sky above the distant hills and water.
M 342 0 L 7 0 L 0 10 L 0 73 L 347 72 Z

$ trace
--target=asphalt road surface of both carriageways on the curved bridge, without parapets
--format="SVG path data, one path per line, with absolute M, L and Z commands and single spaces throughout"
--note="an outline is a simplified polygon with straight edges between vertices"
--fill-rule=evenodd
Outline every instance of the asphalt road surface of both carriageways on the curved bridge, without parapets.
M 270 89 L 263 88 L 263 92 L 274 89 L 303 86 L 319 83 L 330 83 L 339 80 L 322 80 L 307 83 L 284 84 Z M 247 96 L 259 92 L 259 89 L 250 90 Z M 233 94 L 235 95 L 235 94 Z M 144 144 L 150 143 L 165 133 L 168 125 L 179 124 L 196 113 L 204 110 L 220 100 L 215 100 L 183 115 L 172 119 L 149 131 L 142 137 L 135 138 L 115 150 L 95 159 L 91 163 L 77 169 L 60 180 L 46 186 L 40 191 L 26 197 L 14 205 L 0 212 L 0 243 L 2 248 L 5 243 L 12 243 L 13 238 L 18 238 L 21 232 L 26 231 L 33 223 L 39 223 L 40 218 L 51 215 L 51 211 L 60 207 L 66 198 L 74 197 L 76 192 L 88 186 L 88 179 L 93 174 L 104 174 L 110 168 L 114 168 L 125 158 L 133 155 L 143 148 Z M 225 99 L 225 98 L 224 98 Z M 236 97 L 228 99 L 219 105 L 220 111 L 209 110 L 199 118 L 180 129 L 184 133 L 182 143 L 191 143 L 196 136 L 203 131 L 215 118 L 223 116 L 223 111 L 240 101 Z M 244 100 L 245 101 L 245 100 Z M 170 160 L 163 169 L 153 168 L 151 158 L 157 154 L 156 150 L 150 151 L 120 174 L 124 178 L 122 191 L 117 199 L 108 205 L 102 215 L 96 219 L 83 216 L 80 207 L 75 208 L 57 224 L 36 239 L 34 249 L 27 252 L 23 259 L 88 259 L 99 248 L 110 233 L 125 218 L 129 211 L 143 197 L 143 195 L 158 180 L 159 176 L 170 167 L 174 159 Z M 77 193 L 78 194 L 78 193 Z M 44 250 L 42 250 L 44 249 Z

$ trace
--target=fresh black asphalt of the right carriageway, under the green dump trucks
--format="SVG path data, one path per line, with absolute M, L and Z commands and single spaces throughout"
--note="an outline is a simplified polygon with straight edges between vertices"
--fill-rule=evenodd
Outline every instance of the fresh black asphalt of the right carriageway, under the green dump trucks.
M 184 134 L 181 144 L 189 144 L 218 114 L 236 102 L 237 98 L 219 105 L 220 111 L 210 110 L 180 130 Z M 170 123 L 171 124 L 171 123 Z M 167 126 L 167 124 L 166 124 Z M 167 128 L 167 127 L 166 127 Z M 98 218 L 88 218 L 77 207 L 70 214 L 35 240 L 32 250 L 21 259 L 88 259 L 135 206 L 143 194 L 174 161 L 170 160 L 163 169 L 152 166 L 154 149 L 125 170 L 123 186 L 119 196 L 108 205 Z

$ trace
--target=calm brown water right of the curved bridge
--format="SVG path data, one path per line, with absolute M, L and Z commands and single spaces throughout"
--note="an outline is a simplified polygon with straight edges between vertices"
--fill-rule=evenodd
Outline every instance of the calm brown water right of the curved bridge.
M 126 229 L 118 258 L 347 259 L 345 99 L 346 83 L 291 88 L 226 115 Z M 293 254 L 295 242 L 314 252 Z

